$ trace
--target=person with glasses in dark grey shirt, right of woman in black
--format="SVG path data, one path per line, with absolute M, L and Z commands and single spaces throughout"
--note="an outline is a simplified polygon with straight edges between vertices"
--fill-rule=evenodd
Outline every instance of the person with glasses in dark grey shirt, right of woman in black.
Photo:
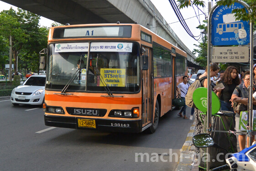
M 248 97 L 249 97 L 249 85 L 250 85 L 250 72 L 247 71 L 243 76 L 244 83 L 236 86 L 230 101 L 232 102 L 232 106 L 235 111 L 235 130 L 239 131 L 239 120 L 240 120 L 240 112 L 247 110 Z M 255 91 L 255 90 L 253 90 Z M 235 105 L 237 103 L 237 105 Z M 253 109 L 256 109 L 256 101 L 253 101 Z M 238 135 L 239 147 L 240 150 L 245 149 L 245 134 L 236 133 Z M 254 140 L 254 135 L 252 135 L 252 139 Z M 247 137 L 247 147 L 249 147 L 249 137 Z

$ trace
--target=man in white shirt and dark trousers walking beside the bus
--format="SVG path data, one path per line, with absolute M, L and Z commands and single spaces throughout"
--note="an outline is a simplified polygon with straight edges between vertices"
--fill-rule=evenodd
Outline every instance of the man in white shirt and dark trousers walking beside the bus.
M 185 102 L 185 96 L 186 96 L 186 94 L 187 94 L 187 89 L 189 88 L 189 85 L 188 85 L 188 77 L 187 76 L 183 76 L 183 82 L 182 83 L 180 83 L 177 87 L 176 87 L 176 90 L 178 91 L 178 94 L 179 95 L 181 95 L 181 99 L 183 99 L 184 100 L 184 102 Z M 184 106 L 182 107 L 182 109 L 181 109 L 181 111 L 180 111 L 180 113 L 178 114 L 178 116 L 179 117 L 183 117 L 183 119 L 188 119 L 187 117 L 186 117 L 186 109 L 187 109 L 187 105 L 186 104 L 184 104 Z M 182 116 L 182 112 L 183 112 L 183 115 L 184 116 Z

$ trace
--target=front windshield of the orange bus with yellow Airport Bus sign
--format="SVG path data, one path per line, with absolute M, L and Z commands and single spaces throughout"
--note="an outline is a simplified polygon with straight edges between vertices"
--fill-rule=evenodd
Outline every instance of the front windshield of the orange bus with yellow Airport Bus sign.
M 67 92 L 106 92 L 106 86 L 112 93 L 139 91 L 138 44 L 92 42 L 90 46 L 88 42 L 50 44 L 46 89 L 61 91 L 68 84 Z

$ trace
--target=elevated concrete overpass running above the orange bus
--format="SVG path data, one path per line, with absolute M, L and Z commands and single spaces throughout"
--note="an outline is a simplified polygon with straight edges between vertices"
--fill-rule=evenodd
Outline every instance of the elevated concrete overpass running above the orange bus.
M 137 22 L 187 52 L 188 64 L 195 63 L 195 55 L 178 38 L 150 0 L 2 1 L 61 24 Z

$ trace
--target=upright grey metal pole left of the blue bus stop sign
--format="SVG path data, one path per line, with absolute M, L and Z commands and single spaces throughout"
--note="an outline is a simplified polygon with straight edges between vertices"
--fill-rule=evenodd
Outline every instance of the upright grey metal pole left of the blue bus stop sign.
M 212 8 L 212 3 L 208 2 L 208 14 L 210 14 Z M 209 15 L 210 16 L 210 15 Z M 212 122 L 212 88 L 211 88 L 211 77 L 210 77 L 210 72 L 211 72 L 211 17 L 208 18 L 208 57 L 207 57 L 207 126 L 206 126 L 206 133 L 209 134 L 210 133 L 210 129 L 211 129 L 211 122 Z M 209 154 L 209 148 L 206 148 L 206 153 Z M 210 155 L 210 154 L 209 154 Z M 208 158 L 210 159 L 210 156 L 208 156 Z M 207 158 L 207 162 L 206 162 L 206 170 L 209 171 L 210 166 L 209 166 L 209 161 Z

